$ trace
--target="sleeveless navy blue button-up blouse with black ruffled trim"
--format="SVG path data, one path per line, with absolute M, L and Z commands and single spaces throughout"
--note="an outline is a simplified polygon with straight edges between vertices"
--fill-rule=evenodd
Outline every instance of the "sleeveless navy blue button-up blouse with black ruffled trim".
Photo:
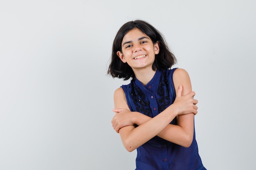
M 174 69 L 160 71 L 144 86 L 138 79 L 121 86 L 131 111 L 155 117 L 175 100 Z M 177 124 L 173 119 L 171 124 Z M 137 125 L 135 125 L 137 126 Z M 136 170 L 206 170 L 198 154 L 195 129 L 189 148 L 166 141 L 158 136 L 137 148 Z

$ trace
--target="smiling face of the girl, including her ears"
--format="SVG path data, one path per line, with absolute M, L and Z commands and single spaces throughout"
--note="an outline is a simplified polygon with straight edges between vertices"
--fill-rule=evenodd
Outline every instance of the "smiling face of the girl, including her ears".
M 155 61 L 155 55 L 159 53 L 158 42 L 153 44 L 152 40 L 142 31 L 135 28 L 129 31 L 122 41 L 122 52 L 117 55 L 133 71 L 140 68 L 151 68 Z

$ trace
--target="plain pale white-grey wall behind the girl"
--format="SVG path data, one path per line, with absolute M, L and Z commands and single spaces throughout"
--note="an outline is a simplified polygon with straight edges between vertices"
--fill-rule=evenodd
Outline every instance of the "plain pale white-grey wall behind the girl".
M 125 22 L 162 32 L 189 72 L 208 170 L 255 169 L 256 1 L 1 0 L 0 170 L 133 170 L 106 75 Z

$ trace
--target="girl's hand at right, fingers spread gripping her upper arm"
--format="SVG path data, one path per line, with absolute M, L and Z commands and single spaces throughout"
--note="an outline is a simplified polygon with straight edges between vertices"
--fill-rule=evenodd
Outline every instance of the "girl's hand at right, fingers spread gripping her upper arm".
M 177 90 L 175 101 L 173 102 L 173 105 L 175 105 L 177 108 L 177 115 L 186 115 L 189 113 L 193 113 L 194 115 L 196 115 L 198 113 L 198 107 L 195 105 L 198 103 L 198 100 L 193 99 L 193 97 L 195 96 L 195 92 L 191 91 L 184 96 L 182 96 L 181 94 L 182 86 L 180 85 Z

